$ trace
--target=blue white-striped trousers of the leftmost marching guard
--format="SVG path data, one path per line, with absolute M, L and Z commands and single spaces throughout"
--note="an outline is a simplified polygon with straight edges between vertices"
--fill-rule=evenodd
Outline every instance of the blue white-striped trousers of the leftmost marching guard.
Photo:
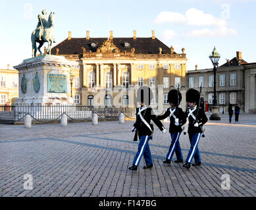
M 132 164 L 139 165 L 142 155 L 144 156 L 146 165 L 151 165 L 153 163 L 152 156 L 149 148 L 149 137 L 150 136 L 141 136 L 140 142 L 138 145 L 138 152 L 134 158 L 134 162 Z

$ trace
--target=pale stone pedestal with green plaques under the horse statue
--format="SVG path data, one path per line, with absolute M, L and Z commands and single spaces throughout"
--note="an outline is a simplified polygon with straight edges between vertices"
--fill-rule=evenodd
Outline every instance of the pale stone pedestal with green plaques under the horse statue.
M 14 68 L 19 76 L 16 104 L 73 104 L 69 77 L 73 64 L 64 56 L 44 54 Z

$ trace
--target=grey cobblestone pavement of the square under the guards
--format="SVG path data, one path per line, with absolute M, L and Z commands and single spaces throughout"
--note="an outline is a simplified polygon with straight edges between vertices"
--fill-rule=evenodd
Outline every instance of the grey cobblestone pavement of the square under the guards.
M 156 129 L 149 142 L 154 167 L 143 169 L 142 158 L 138 171 L 128 170 L 138 147 L 134 121 L 0 125 L 0 196 L 256 196 L 256 115 L 231 124 L 220 117 L 205 125 L 201 166 L 164 165 L 170 135 Z M 180 145 L 185 159 L 188 135 Z M 33 190 L 24 190 L 26 174 Z M 222 190 L 222 175 L 230 177 L 230 190 Z

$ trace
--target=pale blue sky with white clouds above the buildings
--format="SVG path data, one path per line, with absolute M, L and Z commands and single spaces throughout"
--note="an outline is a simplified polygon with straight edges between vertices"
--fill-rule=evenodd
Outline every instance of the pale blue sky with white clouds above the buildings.
M 176 53 L 185 48 L 187 70 L 212 68 L 209 54 L 216 47 L 219 64 L 242 51 L 256 62 L 256 0 L 108 0 L 10 1 L 0 0 L 0 68 L 16 66 L 32 57 L 31 33 L 38 14 L 55 12 L 55 39 L 72 37 L 155 36 Z M 53 46 L 57 45 L 55 43 Z M 46 44 L 45 44 L 46 46 Z M 43 47 L 42 47 L 43 49 Z

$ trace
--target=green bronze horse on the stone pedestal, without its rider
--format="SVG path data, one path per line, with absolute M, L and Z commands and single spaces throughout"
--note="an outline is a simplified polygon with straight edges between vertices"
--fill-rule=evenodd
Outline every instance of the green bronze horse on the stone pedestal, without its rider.
M 34 30 L 32 32 L 32 34 L 31 34 L 32 57 L 36 57 L 37 51 L 39 51 L 40 54 L 42 54 L 40 49 L 45 42 L 48 43 L 48 48 L 47 48 L 46 53 L 51 54 L 51 45 L 53 44 L 53 42 L 55 42 L 55 33 L 53 30 L 54 18 L 55 18 L 55 14 L 54 14 L 54 12 L 51 12 L 51 14 L 49 14 L 49 18 L 48 18 L 45 28 L 43 28 L 43 26 L 41 26 L 43 28 L 43 34 L 41 36 L 41 40 L 39 40 L 39 30 L 38 29 Z M 39 43 L 38 47 L 36 46 L 36 43 Z

